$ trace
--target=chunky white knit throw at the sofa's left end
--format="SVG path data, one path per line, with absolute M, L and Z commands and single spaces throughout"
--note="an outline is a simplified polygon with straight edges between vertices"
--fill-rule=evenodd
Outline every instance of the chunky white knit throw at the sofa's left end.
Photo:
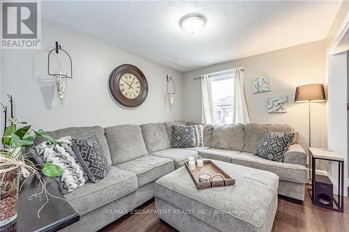
M 80 163 L 77 162 L 75 153 L 71 148 L 71 137 L 61 137 L 59 141 L 63 144 L 57 144 L 56 146 L 50 146 L 47 141 L 43 141 L 38 146 L 34 147 L 36 155 L 38 155 L 43 162 L 51 162 L 57 164 L 64 169 L 64 173 L 55 178 L 59 183 L 59 189 L 62 194 L 68 194 L 73 192 L 84 185 L 87 181 L 87 173 L 84 172 Z

